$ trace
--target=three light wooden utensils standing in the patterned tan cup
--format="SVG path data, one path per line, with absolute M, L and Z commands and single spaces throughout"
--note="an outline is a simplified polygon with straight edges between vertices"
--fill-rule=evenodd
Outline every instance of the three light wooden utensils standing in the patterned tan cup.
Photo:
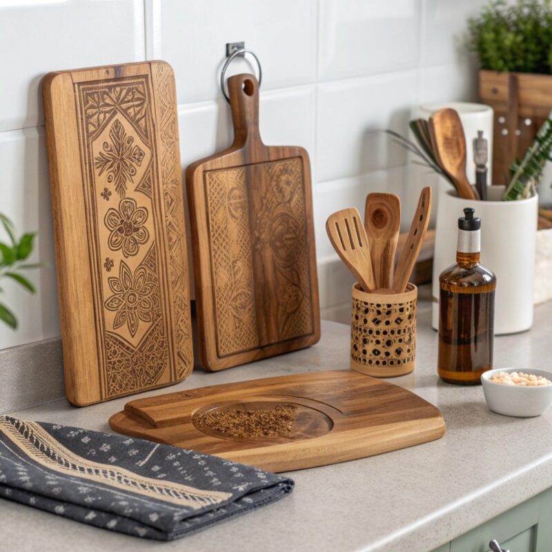
M 431 213 L 431 188 L 422 190 L 406 244 L 394 270 L 401 206 L 397 195 L 371 193 L 366 197 L 364 225 L 355 208 L 328 217 L 328 237 L 344 264 L 367 293 L 404 293 Z

